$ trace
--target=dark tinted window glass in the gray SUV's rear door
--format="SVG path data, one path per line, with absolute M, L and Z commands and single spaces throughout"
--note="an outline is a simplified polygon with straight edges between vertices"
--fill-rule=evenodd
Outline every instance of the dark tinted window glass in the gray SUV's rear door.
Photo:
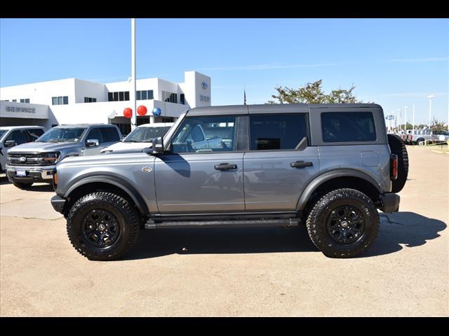
M 250 150 L 293 150 L 307 137 L 307 116 L 261 114 L 250 116 Z

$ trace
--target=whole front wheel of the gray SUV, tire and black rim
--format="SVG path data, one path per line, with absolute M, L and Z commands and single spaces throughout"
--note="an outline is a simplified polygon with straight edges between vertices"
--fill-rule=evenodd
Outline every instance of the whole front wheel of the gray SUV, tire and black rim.
M 135 244 L 140 231 L 137 209 L 113 193 L 81 197 L 67 216 L 72 246 L 89 260 L 116 260 Z

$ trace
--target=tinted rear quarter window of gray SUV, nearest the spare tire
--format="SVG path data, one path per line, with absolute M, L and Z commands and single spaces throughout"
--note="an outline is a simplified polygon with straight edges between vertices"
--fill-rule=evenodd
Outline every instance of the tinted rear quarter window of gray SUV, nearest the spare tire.
M 323 112 L 321 132 L 324 142 L 376 141 L 371 112 Z

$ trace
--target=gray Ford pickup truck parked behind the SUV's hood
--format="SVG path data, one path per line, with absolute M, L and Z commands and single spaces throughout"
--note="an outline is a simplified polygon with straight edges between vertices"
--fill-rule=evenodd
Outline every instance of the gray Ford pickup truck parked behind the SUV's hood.
M 120 139 L 119 127 L 111 124 L 53 127 L 35 142 L 8 151 L 6 176 L 21 189 L 29 188 L 34 182 L 52 183 L 57 162 L 68 157 L 98 155 L 102 148 Z

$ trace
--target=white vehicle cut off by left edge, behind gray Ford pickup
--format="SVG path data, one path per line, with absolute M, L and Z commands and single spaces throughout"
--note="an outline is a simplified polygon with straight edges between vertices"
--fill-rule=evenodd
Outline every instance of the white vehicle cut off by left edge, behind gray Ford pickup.
M 4 172 L 6 155 L 11 147 L 36 141 L 46 129 L 42 126 L 0 127 L 0 172 Z

